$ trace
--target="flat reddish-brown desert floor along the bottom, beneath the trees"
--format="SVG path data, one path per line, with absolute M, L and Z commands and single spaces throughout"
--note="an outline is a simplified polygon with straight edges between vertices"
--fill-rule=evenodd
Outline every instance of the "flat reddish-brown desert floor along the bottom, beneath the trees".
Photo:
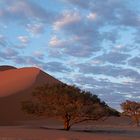
M 140 140 L 140 128 L 109 125 L 1 126 L 0 140 Z

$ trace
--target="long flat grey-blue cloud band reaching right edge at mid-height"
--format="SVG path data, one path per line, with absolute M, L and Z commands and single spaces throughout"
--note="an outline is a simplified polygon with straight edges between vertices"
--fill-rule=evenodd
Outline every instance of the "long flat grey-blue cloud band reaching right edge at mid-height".
M 93 66 L 88 63 L 78 64 L 79 72 L 84 74 L 93 75 L 106 75 L 114 78 L 129 77 L 135 80 L 139 80 L 140 73 L 129 68 L 122 68 L 113 65 Z

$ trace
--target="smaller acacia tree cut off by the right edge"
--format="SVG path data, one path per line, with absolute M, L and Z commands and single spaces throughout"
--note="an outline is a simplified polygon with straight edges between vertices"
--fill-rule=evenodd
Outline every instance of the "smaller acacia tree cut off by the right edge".
M 140 123 L 140 102 L 125 101 L 121 104 L 123 115 L 128 116 L 132 119 L 137 126 Z

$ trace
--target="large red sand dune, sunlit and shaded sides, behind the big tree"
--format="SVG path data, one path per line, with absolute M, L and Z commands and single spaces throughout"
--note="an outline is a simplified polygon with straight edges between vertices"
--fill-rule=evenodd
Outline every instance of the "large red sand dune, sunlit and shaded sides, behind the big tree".
M 31 97 L 33 89 L 59 80 L 35 67 L 0 66 L 0 123 L 27 119 L 21 102 Z

